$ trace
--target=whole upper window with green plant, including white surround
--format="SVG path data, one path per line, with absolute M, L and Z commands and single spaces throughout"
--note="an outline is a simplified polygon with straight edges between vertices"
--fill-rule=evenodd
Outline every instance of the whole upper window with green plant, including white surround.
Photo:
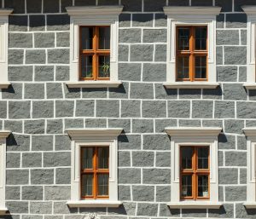
M 119 14 L 122 6 L 67 7 L 71 17 L 69 88 L 119 87 Z

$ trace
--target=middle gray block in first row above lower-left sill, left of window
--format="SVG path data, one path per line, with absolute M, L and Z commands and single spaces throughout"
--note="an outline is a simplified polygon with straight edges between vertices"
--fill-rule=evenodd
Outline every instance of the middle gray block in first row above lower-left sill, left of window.
M 43 187 L 22 187 L 22 200 L 42 200 Z

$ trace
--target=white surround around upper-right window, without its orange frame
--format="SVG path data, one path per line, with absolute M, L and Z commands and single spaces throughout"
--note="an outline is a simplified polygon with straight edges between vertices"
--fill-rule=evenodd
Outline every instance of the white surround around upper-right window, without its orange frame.
M 166 89 L 215 89 L 218 87 L 216 75 L 216 15 L 220 7 L 164 7 L 167 15 L 167 71 Z M 176 27 L 207 26 L 208 28 L 208 81 L 176 81 Z

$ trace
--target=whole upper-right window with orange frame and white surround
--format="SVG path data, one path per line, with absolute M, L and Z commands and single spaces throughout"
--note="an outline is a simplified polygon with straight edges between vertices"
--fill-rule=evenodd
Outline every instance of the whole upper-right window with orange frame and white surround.
M 167 15 L 167 89 L 214 89 L 219 7 L 164 7 Z

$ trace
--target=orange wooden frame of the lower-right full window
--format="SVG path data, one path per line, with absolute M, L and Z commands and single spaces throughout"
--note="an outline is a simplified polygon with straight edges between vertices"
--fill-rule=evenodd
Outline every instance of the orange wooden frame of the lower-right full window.
M 180 147 L 180 199 L 210 199 L 210 147 L 206 147 L 208 149 L 208 169 L 198 169 L 197 168 L 197 160 L 198 160 L 198 148 L 200 147 L 191 147 L 193 149 L 192 155 L 192 169 L 183 169 L 182 167 L 182 148 L 190 147 L 190 146 L 182 146 Z M 183 196 L 182 195 L 182 176 L 192 176 L 192 196 Z M 207 197 L 199 197 L 198 196 L 198 176 L 208 176 L 208 196 Z

